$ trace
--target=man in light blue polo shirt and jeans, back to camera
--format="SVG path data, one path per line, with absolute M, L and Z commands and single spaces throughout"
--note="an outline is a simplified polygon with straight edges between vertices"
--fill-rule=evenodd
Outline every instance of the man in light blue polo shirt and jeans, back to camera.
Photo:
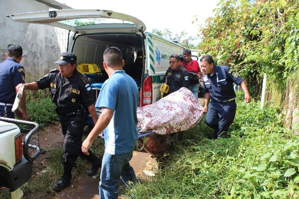
M 120 177 L 125 182 L 136 181 L 129 161 L 137 142 L 138 88 L 125 73 L 122 52 L 110 47 L 104 52 L 104 68 L 109 79 L 103 84 L 96 107 L 102 113 L 92 131 L 82 143 L 82 152 L 88 154 L 93 140 L 104 129 L 105 153 L 102 160 L 100 199 L 117 199 Z

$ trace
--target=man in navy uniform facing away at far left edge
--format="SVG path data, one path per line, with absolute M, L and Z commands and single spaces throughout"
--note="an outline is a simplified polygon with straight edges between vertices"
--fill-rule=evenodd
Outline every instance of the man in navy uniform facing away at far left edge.
M 22 60 L 23 49 L 19 45 L 9 44 L 7 46 L 6 60 L 0 63 L 0 116 L 14 118 L 11 111 L 16 91 L 15 87 L 20 83 L 25 83 L 25 70 L 20 61 Z M 8 56 L 8 57 L 7 57 Z M 15 113 L 21 119 L 29 120 L 26 111 L 26 96 L 20 100 L 20 109 Z

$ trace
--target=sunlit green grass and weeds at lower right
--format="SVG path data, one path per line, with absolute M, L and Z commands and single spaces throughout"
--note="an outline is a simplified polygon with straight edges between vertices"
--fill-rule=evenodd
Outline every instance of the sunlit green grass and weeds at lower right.
M 260 109 L 238 95 L 229 138 L 208 139 L 202 121 L 176 145 L 153 181 L 133 199 L 287 199 L 298 197 L 299 138 L 282 127 L 277 107 Z

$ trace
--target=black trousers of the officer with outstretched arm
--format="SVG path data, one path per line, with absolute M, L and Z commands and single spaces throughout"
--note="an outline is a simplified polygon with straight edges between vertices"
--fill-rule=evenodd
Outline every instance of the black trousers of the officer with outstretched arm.
M 82 156 L 90 162 L 98 160 L 98 158 L 89 150 L 89 155 L 85 155 L 81 151 L 83 129 L 85 127 L 86 118 L 81 115 L 72 117 L 60 116 L 63 139 L 63 169 L 64 176 L 71 177 L 71 169 L 76 166 L 78 156 Z

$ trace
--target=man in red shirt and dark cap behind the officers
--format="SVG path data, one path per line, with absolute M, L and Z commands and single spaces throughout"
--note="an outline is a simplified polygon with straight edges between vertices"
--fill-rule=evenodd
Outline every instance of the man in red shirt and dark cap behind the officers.
M 198 84 L 199 81 L 192 81 L 192 76 L 197 75 L 198 79 L 200 78 L 200 68 L 199 64 L 197 61 L 191 59 L 191 51 L 188 49 L 183 50 L 183 57 L 184 57 L 184 62 L 180 62 L 180 65 L 184 67 L 188 72 L 191 72 L 190 78 L 189 78 L 189 90 L 193 93 L 194 98 L 197 100 L 198 99 Z

